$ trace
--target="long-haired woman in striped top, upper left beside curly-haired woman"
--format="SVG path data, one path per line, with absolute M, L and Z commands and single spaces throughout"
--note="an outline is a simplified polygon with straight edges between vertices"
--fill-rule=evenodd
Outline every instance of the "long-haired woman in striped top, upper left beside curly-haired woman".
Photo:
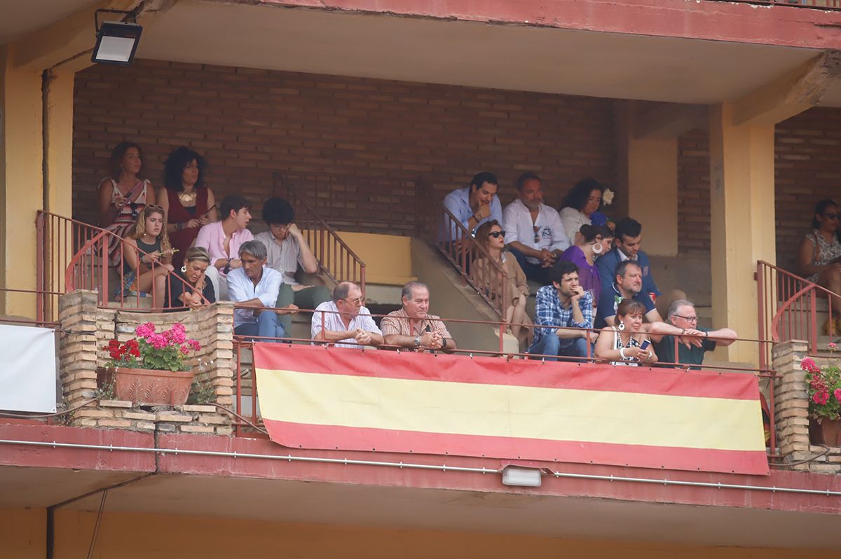
M 140 145 L 120 142 L 111 150 L 108 177 L 99 182 L 99 226 L 113 232 L 108 235 L 108 262 L 120 261 L 120 240 L 135 224 L 140 210 L 155 203 L 155 189 L 141 174 L 143 152 Z

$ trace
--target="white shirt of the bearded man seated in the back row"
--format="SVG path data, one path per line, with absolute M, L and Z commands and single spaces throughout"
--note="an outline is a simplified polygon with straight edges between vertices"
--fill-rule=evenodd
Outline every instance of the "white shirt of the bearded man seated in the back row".
M 563 229 L 558 212 L 545 203 L 540 204 L 537 212 L 537 219 L 532 222 L 532 213 L 522 203 L 520 198 L 505 206 L 502 211 L 502 220 L 505 223 L 505 245 L 515 240 L 534 250 L 567 250 L 569 238 L 566 230 Z M 535 241 L 537 237 L 537 241 Z M 526 258 L 532 264 L 537 264 L 537 258 L 531 256 Z

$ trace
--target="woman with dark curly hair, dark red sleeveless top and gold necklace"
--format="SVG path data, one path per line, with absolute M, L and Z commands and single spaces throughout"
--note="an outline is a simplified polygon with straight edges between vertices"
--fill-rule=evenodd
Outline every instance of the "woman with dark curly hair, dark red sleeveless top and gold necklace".
M 198 229 L 216 221 L 214 193 L 204 186 L 208 164 L 204 157 L 184 146 L 173 151 L 164 163 L 163 183 L 158 198 L 167 212 L 167 233 L 172 247 L 178 250 L 172 259 L 181 267 Z

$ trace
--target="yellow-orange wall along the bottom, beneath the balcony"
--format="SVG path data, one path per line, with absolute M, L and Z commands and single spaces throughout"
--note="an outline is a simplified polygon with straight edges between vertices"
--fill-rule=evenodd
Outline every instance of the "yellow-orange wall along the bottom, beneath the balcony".
M 290 505 L 294 506 L 278 504 Z M 45 556 L 45 516 L 44 509 L 0 509 L 0 555 L 3 559 L 40 559 Z M 87 556 L 95 519 L 95 513 L 57 511 L 55 558 Z M 509 559 L 523 556 L 532 559 L 556 559 L 561 556 L 588 559 L 791 559 L 838 556 L 838 553 L 106 512 L 94 556 L 98 559 Z

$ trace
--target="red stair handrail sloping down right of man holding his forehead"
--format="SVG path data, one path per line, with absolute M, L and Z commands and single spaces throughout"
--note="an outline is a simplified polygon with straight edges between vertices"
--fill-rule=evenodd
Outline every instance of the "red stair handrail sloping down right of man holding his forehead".
M 357 253 L 341 239 L 336 233 L 336 229 L 333 229 L 330 224 L 327 224 L 324 219 L 321 219 L 321 216 L 315 209 L 304 202 L 304 198 L 298 192 L 295 192 L 294 188 L 285 180 L 282 173 L 274 173 L 274 183 L 283 187 L 288 197 L 291 198 L 290 202 L 294 202 L 293 205 L 304 210 L 306 214 L 304 220 L 315 222 L 320 228 L 315 230 L 307 228 L 301 231 L 303 235 L 309 237 L 307 242 L 309 248 L 315 254 L 316 260 L 318 260 L 320 271 L 336 283 L 344 281 L 357 283 L 362 290 L 362 295 L 364 295 L 365 262 L 362 261 L 362 258 L 357 256 Z M 325 232 L 327 236 L 326 242 L 324 235 L 318 235 L 319 231 Z M 314 240 L 318 242 L 313 242 Z M 338 262 L 337 267 L 331 266 L 335 265 L 336 262 Z M 331 269 L 331 267 L 335 267 L 335 269 Z

